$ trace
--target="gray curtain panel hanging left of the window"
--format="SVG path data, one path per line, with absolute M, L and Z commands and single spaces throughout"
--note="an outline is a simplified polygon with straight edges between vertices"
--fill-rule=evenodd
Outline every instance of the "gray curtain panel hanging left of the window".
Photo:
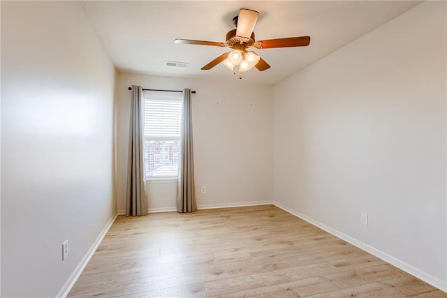
M 141 86 L 132 85 L 126 216 L 141 216 L 147 214 L 143 154 L 142 89 Z

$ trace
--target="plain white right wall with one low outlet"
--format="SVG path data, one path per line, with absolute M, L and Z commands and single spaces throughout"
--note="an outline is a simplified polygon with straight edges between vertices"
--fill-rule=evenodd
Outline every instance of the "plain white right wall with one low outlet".
M 445 1 L 274 86 L 274 200 L 447 290 Z

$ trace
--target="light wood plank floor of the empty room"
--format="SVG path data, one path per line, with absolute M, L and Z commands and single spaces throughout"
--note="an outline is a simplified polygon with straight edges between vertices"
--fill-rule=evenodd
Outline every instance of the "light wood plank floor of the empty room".
M 119 216 L 69 297 L 447 297 L 272 205 Z

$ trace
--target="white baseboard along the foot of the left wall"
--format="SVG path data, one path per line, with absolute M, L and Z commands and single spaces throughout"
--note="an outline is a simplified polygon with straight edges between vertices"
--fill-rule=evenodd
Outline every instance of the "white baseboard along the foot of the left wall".
M 101 244 L 101 241 L 103 240 L 105 234 L 107 234 L 108 230 L 112 226 L 112 223 L 117 218 L 117 214 L 112 216 L 108 223 L 105 225 L 103 230 L 99 233 L 98 237 L 96 237 L 96 240 L 93 244 L 91 244 L 89 250 L 85 254 L 84 258 L 79 262 L 78 266 L 76 266 L 75 270 L 71 274 L 71 276 L 67 279 L 67 281 L 64 283 L 64 286 L 62 286 L 61 290 L 59 290 L 59 293 L 57 293 L 56 297 L 67 297 L 68 293 L 70 292 L 71 288 L 73 288 L 73 285 L 75 285 L 76 281 L 78 281 L 79 276 L 82 274 L 82 271 L 87 266 L 89 260 L 93 256 L 94 252 L 96 251 L 96 248 L 98 248 L 99 244 Z

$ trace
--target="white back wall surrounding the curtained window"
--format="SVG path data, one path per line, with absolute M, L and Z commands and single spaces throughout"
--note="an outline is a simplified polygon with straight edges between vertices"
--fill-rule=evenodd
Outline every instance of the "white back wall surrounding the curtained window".
M 231 74 L 228 74 L 231 75 Z M 117 77 L 117 196 L 126 209 L 131 84 L 150 89 L 191 88 L 196 199 L 199 208 L 272 200 L 273 87 L 215 80 L 119 73 Z M 206 194 L 200 193 L 205 186 Z M 149 210 L 175 209 L 176 185 L 149 184 Z

